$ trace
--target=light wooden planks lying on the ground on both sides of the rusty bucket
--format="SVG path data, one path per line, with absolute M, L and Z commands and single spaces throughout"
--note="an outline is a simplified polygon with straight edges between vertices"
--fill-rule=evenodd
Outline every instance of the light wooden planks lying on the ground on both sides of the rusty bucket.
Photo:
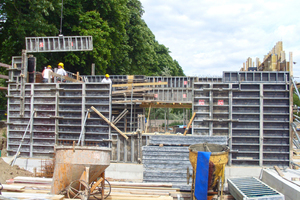
M 67 199 L 63 195 L 51 195 L 51 178 L 16 177 L 3 184 L 2 196 L 17 199 Z M 171 183 L 110 182 L 108 200 L 177 200 L 190 199 L 190 192 L 180 192 Z M 0 197 L 1 199 L 1 197 Z M 95 199 L 91 196 L 89 199 Z

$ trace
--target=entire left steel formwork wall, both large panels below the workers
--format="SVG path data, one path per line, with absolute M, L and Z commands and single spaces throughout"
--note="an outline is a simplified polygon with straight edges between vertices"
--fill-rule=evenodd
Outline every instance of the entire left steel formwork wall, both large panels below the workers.
M 84 115 L 91 106 L 110 120 L 110 84 L 25 84 L 24 97 L 20 84 L 8 87 L 9 156 L 17 152 L 31 116 L 34 117 L 22 143 L 21 156 L 52 157 L 55 144 L 77 143 L 81 130 L 85 145 L 110 146 L 110 127 L 95 113 L 91 113 L 82 129 Z M 22 98 L 23 117 L 20 116 Z

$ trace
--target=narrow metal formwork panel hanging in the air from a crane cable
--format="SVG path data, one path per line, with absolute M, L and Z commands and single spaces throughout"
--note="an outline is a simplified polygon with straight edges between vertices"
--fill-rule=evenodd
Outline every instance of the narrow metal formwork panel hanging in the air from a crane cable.
M 27 53 L 92 51 L 92 36 L 26 37 Z

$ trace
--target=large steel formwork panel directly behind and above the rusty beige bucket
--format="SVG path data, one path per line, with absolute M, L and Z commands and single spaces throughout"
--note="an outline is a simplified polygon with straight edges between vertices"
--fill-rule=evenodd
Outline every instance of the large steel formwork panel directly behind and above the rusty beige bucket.
M 72 145 L 82 133 L 82 145 L 110 147 L 110 126 L 90 109 L 111 120 L 111 89 L 107 83 L 60 84 L 57 143 Z M 89 117 L 86 114 L 90 109 Z

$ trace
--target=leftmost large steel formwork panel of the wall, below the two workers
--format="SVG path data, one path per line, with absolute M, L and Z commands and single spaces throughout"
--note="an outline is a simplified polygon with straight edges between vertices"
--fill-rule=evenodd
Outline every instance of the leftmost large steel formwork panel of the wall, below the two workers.
M 55 144 L 55 84 L 26 84 L 24 93 L 24 116 L 20 116 L 20 88 L 9 84 L 8 90 L 8 155 L 13 156 L 21 142 L 29 123 L 20 149 L 24 157 L 52 157 Z

